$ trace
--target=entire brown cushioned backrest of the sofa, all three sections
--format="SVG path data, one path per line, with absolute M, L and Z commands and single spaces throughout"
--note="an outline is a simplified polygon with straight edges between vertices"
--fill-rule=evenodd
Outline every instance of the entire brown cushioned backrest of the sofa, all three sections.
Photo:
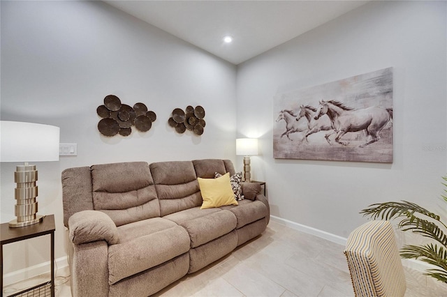
M 62 172 L 64 224 L 78 211 L 107 213 L 117 226 L 202 205 L 197 178 L 235 174 L 230 160 L 123 162 Z

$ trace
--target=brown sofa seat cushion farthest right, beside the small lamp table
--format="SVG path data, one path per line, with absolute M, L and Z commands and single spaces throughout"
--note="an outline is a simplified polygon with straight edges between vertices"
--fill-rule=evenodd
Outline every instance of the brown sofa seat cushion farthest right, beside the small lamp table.
M 228 210 L 234 213 L 237 220 L 236 229 L 242 228 L 246 224 L 250 224 L 251 222 L 261 220 L 268 215 L 267 206 L 265 206 L 265 204 L 263 204 L 261 201 L 251 201 L 249 199 L 244 199 L 238 202 L 238 206 L 230 205 L 220 207 L 223 210 Z

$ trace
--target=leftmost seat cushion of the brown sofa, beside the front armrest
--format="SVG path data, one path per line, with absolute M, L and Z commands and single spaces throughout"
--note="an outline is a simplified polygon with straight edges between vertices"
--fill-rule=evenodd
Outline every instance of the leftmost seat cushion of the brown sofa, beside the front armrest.
M 143 224 L 148 226 L 142 227 Z M 157 227 L 161 223 L 163 227 Z M 109 284 L 162 264 L 189 251 L 189 234 L 173 222 L 154 218 L 122 226 L 122 241 L 108 250 Z M 138 225 L 138 228 L 136 228 Z M 140 230 L 136 230 L 142 227 Z M 133 230 L 135 229 L 135 230 Z M 158 230 L 157 230 L 158 229 Z

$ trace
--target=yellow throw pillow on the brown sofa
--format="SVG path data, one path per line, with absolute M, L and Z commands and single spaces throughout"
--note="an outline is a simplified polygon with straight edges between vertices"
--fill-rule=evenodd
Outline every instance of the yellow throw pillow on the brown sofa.
M 219 178 L 197 178 L 202 194 L 203 204 L 200 209 L 213 208 L 224 205 L 237 205 L 233 188 L 231 188 L 230 174 Z

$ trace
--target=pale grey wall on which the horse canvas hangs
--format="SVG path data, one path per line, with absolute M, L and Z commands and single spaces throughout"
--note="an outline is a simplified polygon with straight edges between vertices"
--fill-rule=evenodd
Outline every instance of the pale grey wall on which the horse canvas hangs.
M 346 238 L 366 220 L 359 211 L 376 202 L 406 199 L 446 211 L 439 200 L 446 36 L 445 1 L 372 1 L 238 66 L 237 136 L 261 137 L 252 171 L 267 182 L 272 215 Z M 387 67 L 394 68 L 393 164 L 273 158 L 278 91 Z

